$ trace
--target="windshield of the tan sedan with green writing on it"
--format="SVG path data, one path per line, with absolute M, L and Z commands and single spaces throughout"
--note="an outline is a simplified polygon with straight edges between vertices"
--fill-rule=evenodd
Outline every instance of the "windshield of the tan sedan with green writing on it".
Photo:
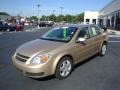
M 68 42 L 75 34 L 77 27 L 60 27 L 54 28 L 45 33 L 41 39 Z

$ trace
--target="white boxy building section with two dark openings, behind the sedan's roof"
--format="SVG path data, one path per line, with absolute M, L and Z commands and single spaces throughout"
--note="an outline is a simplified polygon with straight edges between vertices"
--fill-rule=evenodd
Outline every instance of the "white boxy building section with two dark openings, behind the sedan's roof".
M 97 11 L 85 11 L 84 12 L 84 24 L 98 24 L 99 12 Z

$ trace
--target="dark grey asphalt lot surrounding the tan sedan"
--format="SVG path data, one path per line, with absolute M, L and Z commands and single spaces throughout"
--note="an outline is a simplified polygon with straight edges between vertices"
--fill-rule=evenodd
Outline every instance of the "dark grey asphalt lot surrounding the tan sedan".
M 106 56 L 94 56 L 76 66 L 64 80 L 31 79 L 12 65 L 21 44 L 39 38 L 48 29 L 0 34 L 0 90 L 120 90 L 120 36 L 109 35 Z

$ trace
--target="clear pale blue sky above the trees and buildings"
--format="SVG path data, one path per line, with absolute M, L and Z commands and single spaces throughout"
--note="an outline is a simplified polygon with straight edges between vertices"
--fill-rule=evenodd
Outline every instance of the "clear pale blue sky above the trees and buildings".
M 37 16 L 40 4 L 40 16 L 61 14 L 80 14 L 84 11 L 99 11 L 112 0 L 0 0 L 0 12 L 16 16 Z

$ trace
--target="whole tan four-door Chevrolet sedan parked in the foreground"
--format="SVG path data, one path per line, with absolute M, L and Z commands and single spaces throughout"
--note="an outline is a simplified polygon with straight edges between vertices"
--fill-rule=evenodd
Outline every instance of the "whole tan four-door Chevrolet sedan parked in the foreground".
M 12 62 L 32 78 L 55 75 L 64 79 L 71 74 L 75 64 L 95 54 L 104 56 L 107 41 L 107 33 L 96 25 L 61 26 L 21 45 Z

